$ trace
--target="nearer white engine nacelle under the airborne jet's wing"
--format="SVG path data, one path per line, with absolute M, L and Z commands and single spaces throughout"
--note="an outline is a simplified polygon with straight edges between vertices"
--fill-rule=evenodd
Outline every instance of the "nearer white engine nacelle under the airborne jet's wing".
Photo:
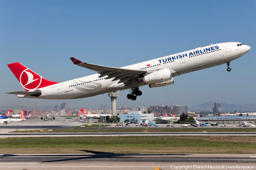
M 143 82 L 145 84 L 155 84 L 155 83 L 165 82 L 171 79 L 172 79 L 171 70 L 162 69 L 144 76 Z

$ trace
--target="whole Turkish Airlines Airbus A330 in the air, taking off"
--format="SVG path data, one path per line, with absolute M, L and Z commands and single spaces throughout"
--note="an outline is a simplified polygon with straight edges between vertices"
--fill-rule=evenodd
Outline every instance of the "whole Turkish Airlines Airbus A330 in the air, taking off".
M 70 58 L 75 65 L 98 73 L 61 83 L 49 81 L 20 63 L 12 63 L 8 67 L 26 92 L 7 94 L 16 94 L 20 98 L 79 99 L 131 89 L 127 98 L 136 100 L 137 96 L 142 95 L 139 87 L 144 85 L 149 85 L 150 88 L 167 86 L 174 83 L 175 76 L 225 63 L 230 71 L 230 61 L 241 57 L 250 48 L 240 42 L 211 44 L 121 68 L 89 64 Z

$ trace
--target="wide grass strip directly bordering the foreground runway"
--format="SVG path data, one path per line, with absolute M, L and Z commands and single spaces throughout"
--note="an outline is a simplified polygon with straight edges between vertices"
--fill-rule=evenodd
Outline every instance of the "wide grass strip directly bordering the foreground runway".
M 256 136 L 29 137 L 0 139 L 1 153 L 255 154 Z

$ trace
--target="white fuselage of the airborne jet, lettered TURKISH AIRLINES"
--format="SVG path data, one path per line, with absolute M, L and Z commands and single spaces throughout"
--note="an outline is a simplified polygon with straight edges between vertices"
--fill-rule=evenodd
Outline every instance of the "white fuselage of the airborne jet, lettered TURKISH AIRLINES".
M 247 45 L 237 46 L 237 44 L 240 43 L 226 42 L 213 44 L 166 57 L 144 61 L 142 63 L 128 65 L 122 68 L 142 69 L 148 72 L 168 68 L 171 70 L 172 77 L 174 77 L 227 63 L 228 61 L 241 57 L 250 49 Z M 147 65 L 150 66 L 148 67 Z M 79 99 L 131 88 L 131 84 L 129 83 L 118 84 L 117 82 L 119 80 L 112 81 L 114 78 L 105 79 L 107 76 L 102 78 L 99 78 L 99 76 L 100 74 L 94 74 L 39 88 L 38 90 L 41 90 L 42 92 L 42 95 L 39 97 L 27 95 L 18 95 L 18 97 L 38 99 Z M 136 87 L 144 85 L 146 84 L 141 79 L 138 80 Z

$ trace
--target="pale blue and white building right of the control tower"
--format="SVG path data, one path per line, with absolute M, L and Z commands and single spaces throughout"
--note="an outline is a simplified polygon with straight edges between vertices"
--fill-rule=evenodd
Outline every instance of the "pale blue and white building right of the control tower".
M 129 111 L 128 114 L 119 114 L 118 117 L 120 118 L 120 122 L 124 122 L 125 120 L 129 119 L 131 123 L 139 123 L 145 120 L 151 122 L 154 120 L 154 114 L 143 114 L 142 111 Z

